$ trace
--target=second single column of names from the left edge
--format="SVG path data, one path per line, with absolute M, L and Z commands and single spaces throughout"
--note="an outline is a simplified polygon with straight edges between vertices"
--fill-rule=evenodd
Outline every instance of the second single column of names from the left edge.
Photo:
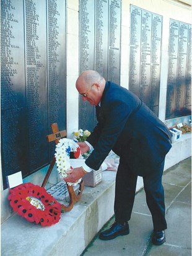
M 29 170 L 48 161 L 46 88 L 46 1 L 25 0 L 26 99 Z

